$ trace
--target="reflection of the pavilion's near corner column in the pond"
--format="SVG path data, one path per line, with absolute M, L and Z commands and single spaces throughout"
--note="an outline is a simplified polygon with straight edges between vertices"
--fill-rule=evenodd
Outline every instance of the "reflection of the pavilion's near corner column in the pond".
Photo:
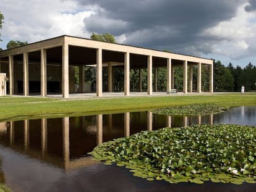
M 63 146 L 63 160 L 64 167 L 69 165 L 70 151 L 69 151 L 69 117 L 62 118 L 62 146 Z

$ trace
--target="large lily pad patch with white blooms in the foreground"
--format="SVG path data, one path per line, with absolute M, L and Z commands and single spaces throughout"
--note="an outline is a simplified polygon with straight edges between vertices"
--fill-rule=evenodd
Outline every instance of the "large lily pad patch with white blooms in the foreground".
M 136 177 L 169 183 L 256 183 L 256 127 L 192 125 L 142 131 L 90 152 Z

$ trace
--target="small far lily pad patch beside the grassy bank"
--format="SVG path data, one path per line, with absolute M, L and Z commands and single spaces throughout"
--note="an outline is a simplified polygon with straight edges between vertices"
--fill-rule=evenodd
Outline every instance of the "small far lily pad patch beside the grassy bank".
M 173 106 L 153 110 L 155 114 L 166 115 L 208 115 L 218 114 L 228 109 L 228 106 L 220 106 L 218 104 L 189 104 L 184 106 Z

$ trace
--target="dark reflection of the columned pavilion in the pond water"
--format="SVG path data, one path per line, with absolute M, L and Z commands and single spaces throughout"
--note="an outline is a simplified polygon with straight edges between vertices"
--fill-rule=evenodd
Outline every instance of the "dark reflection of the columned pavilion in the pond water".
M 87 153 L 97 144 L 142 130 L 213 124 L 213 115 L 169 116 L 152 112 L 19 120 L 0 123 L 0 144 L 64 170 L 95 164 Z M 0 169 L 1 177 L 1 169 Z

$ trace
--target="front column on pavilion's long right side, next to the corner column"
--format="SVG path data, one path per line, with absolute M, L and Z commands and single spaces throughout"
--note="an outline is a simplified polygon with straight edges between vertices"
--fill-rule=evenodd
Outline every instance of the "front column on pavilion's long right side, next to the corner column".
M 96 90 L 96 96 L 101 97 L 102 96 L 102 49 L 97 49 L 97 58 L 96 58 L 97 62 L 97 72 L 96 72 L 96 86 L 97 86 L 97 90 Z

